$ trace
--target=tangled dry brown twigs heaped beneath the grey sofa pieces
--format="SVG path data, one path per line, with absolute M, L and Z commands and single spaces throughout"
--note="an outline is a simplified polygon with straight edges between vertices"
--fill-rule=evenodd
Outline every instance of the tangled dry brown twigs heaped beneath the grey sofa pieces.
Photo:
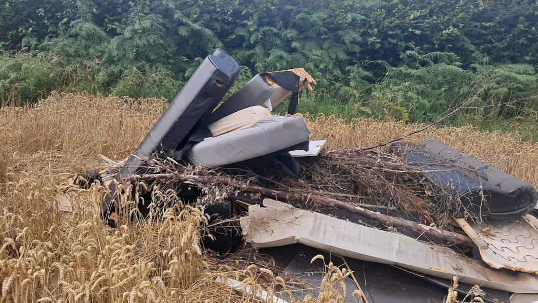
M 448 222 L 458 205 L 453 196 L 424 178 L 424 171 L 410 168 L 394 154 L 342 149 L 301 162 L 299 178 L 272 170 L 254 174 L 237 167 L 201 168 L 172 161 L 152 161 L 145 175 L 151 180 L 164 180 L 161 187 L 175 190 L 181 190 L 178 180 L 188 181 L 201 189 L 198 199 L 203 204 L 231 197 L 243 191 L 245 185 L 252 185 L 268 191 L 293 192 L 307 203 L 312 202 L 308 197 L 316 195 L 350 205 L 414 212 L 422 223 L 439 226 Z M 272 196 L 270 192 L 268 195 Z

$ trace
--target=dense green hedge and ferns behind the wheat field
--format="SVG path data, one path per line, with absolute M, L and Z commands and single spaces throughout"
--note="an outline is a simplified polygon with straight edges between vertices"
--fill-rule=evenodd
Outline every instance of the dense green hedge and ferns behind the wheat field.
M 238 85 L 305 67 L 318 86 L 301 111 L 427 122 L 466 105 L 449 122 L 525 129 L 538 109 L 536 1 L 0 4 L 4 102 L 53 90 L 171 99 L 222 47 L 244 66 Z

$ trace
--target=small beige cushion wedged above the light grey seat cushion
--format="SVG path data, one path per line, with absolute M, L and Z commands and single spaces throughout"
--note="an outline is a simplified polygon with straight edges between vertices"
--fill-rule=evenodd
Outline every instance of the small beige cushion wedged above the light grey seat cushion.
M 263 106 L 251 106 L 240 111 L 237 111 L 231 115 L 211 123 L 208 127 L 214 137 L 233 132 L 247 127 L 251 127 L 254 123 L 261 119 L 271 116 L 271 112 L 268 108 Z

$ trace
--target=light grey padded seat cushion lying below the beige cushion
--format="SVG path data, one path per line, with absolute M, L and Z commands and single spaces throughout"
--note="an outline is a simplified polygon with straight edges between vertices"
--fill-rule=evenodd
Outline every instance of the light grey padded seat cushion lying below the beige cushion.
M 302 117 L 273 115 L 253 126 L 204 140 L 190 149 L 191 163 L 218 167 L 277 152 L 308 141 L 310 131 Z

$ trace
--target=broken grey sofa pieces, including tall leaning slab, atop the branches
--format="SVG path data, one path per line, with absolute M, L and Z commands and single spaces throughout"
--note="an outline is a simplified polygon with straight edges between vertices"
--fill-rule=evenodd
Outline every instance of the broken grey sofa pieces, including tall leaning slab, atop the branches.
M 204 59 L 114 179 L 122 182 L 143 172 L 147 160 L 165 157 L 206 167 L 236 164 L 298 175 L 299 163 L 288 152 L 308 150 L 306 122 L 271 111 L 291 95 L 288 113 L 295 113 L 299 91 L 312 90 L 314 79 L 303 68 L 257 74 L 215 110 L 238 74 L 236 60 L 220 49 Z M 109 189 L 114 194 L 104 197 L 103 218 L 115 212 L 114 182 Z

